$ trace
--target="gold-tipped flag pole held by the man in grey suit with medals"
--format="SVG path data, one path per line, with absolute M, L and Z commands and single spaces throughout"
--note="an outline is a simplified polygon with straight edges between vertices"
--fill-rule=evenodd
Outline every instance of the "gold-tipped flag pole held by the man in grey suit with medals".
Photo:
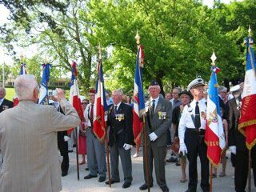
M 136 39 L 136 43 L 138 45 L 138 50 L 139 50 L 139 46 L 140 46 L 140 36 L 138 35 L 138 30 L 137 30 L 137 34 L 135 36 Z M 143 118 L 143 140 L 144 140 L 144 152 L 145 155 L 143 155 L 143 158 L 145 157 L 145 163 L 146 163 L 146 185 L 147 185 L 147 191 L 150 192 L 150 177 L 149 177 L 149 154 L 147 151 L 147 140 L 146 140 L 146 126 L 145 126 L 145 114 L 142 115 Z

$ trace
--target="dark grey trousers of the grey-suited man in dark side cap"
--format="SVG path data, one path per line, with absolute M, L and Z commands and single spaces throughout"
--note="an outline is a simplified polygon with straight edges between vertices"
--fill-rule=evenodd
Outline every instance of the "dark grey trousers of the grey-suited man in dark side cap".
M 155 177 L 158 182 L 158 186 L 163 187 L 166 186 L 166 170 L 165 170 L 165 162 L 166 162 L 166 146 L 157 146 L 151 145 L 147 146 L 148 156 L 148 165 L 149 165 L 149 185 L 153 184 L 153 160 L 154 160 L 154 171 Z M 143 169 L 144 169 L 144 179 L 146 182 L 146 157 L 143 146 Z

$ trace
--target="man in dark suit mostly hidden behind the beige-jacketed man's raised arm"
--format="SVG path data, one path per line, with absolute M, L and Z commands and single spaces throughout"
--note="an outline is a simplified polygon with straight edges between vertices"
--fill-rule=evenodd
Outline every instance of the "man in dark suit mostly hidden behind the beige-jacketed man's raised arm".
M 50 100 L 52 101 L 52 100 Z M 49 103 L 50 103 L 49 101 Z M 59 102 L 52 101 L 50 105 L 53 105 L 58 112 L 64 114 L 62 107 L 59 105 Z M 57 132 L 57 140 L 58 140 L 58 149 L 63 157 L 62 159 L 62 177 L 65 177 L 68 174 L 68 170 L 70 167 L 70 158 L 68 153 L 68 143 L 70 137 L 67 135 L 67 131 L 58 131 Z

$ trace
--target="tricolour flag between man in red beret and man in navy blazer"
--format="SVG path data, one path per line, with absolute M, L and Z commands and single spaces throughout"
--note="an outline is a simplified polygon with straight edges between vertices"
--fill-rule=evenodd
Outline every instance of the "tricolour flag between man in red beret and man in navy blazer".
M 105 112 L 107 110 L 104 78 L 102 70 L 102 58 L 98 59 L 98 78 L 96 82 L 96 94 L 94 101 L 94 134 L 100 142 L 104 142 L 106 135 Z

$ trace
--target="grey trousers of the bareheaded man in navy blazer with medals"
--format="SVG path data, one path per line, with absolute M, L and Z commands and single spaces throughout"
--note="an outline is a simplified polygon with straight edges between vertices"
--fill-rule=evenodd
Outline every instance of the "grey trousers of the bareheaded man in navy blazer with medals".
M 118 147 L 116 142 L 113 143 L 113 146 L 110 146 L 111 179 L 114 181 L 120 181 L 118 170 L 119 155 L 122 163 L 124 181 L 132 182 L 133 177 L 130 150 L 125 150 L 124 148 Z

